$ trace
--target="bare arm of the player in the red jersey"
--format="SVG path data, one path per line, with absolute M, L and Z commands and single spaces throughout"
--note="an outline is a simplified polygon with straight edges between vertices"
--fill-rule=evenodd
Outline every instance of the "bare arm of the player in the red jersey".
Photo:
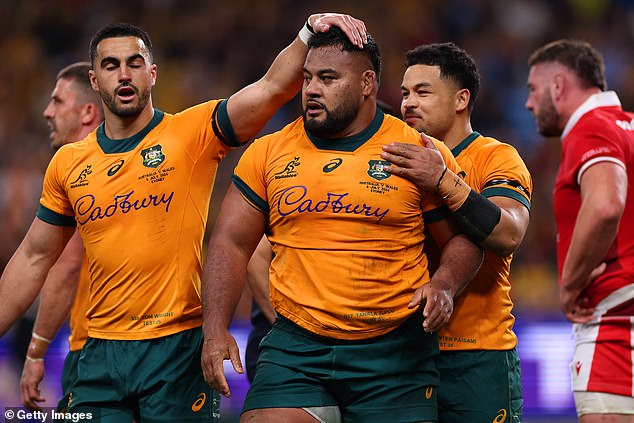
M 585 322 L 592 309 L 581 293 L 614 242 L 627 197 L 627 173 L 613 162 L 597 163 L 581 177 L 581 208 L 561 272 L 560 305 L 572 322 Z M 610 189 L 606 189 L 609 187 Z

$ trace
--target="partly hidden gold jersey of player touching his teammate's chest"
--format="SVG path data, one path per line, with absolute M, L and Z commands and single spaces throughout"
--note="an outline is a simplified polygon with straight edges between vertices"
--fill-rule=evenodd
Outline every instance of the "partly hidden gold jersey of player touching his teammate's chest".
M 474 132 L 451 152 L 476 192 L 512 198 L 530 209 L 531 175 L 514 147 Z M 451 320 L 438 333 L 441 350 L 508 350 L 517 345 L 511 259 L 485 251 L 478 274 L 456 299 Z

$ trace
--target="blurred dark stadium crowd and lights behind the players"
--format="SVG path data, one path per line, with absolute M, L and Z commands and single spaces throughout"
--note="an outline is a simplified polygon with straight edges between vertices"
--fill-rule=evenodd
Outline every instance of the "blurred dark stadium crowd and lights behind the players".
M 51 157 L 42 111 L 67 64 L 88 58 L 91 35 L 125 21 L 149 32 L 158 64 L 154 106 L 166 112 L 224 98 L 257 80 L 306 17 L 320 11 L 365 20 L 383 56 L 379 97 L 398 110 L 403 55 L 420 43 L 454 41 L 476 59 L 482 91 L 475 130 L 513 144 L 534 180 L 531 223 L 512 268 L 516 332 L 524 371 L 525 422 L 574 421 L 567 365 L 570 325 L 557 306 L 552 186 L 557 140 L 536 132 L 526 100 L 526 61 L 533 49 L 562 37 L 582 38 L 604 55 L 607 80 L 625 108 L 634 109 L 634 1 L 632 0 L 0 0 L 0 268 L 24 236 L 38 206 Z M 264 132 L 298 116 L 297 100 Z M 228 175 L 239 158 L 222 163 L 212 199 L 212 227 Z M 249 329 L 245 295 L 233 326 Z M 19 404 L 18 383 L 35 306 L 0 338 L 0 407 Z M 58 396 L 67 342 L 60 334 L 47 357 L 44 392 Z M 247 388 L 232 376 L 234 395 L 223 400 L 223 421 L 235 420 Z

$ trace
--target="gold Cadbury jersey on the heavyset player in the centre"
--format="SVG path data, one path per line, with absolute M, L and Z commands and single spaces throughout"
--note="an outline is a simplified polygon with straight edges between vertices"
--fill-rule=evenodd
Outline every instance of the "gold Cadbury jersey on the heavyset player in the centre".
M 336 140 L 307 133 L 299 118 L 256 140 L 235 169 L 233 183 L 268 216 L 271 302 L 313 333 L 387 333 L 414 313 L 407 304 L 429 281 L 424 222 L 448 209 L 383 170 L 381 148 L 393 141 L 422 145 L 380 110 L 361 133 Z M 459 173 L 449 149 L 436 145 Z

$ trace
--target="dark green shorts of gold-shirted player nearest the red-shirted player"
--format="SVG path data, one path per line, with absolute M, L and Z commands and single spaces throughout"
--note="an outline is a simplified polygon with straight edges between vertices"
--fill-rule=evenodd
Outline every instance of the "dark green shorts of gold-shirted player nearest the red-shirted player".
M 438 359 L 438 415 L 445 423 L 520 423 L 517 350 L 444 351 Z

